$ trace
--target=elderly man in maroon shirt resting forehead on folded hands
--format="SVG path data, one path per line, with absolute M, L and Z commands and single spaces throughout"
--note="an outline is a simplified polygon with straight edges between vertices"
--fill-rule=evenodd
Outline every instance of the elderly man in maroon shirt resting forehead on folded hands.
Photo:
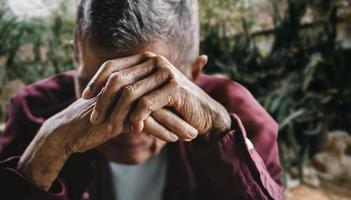
M 283 199 L 278 126 L 201 74 L 195 0 L 82 0 L 74 51 L 12 100 L 1 199 Z

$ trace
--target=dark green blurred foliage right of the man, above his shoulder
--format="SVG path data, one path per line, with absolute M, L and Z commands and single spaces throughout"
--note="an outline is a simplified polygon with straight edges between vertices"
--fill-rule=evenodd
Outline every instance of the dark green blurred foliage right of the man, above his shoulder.
M 279 122 L 283 167 L 296 166 L 302 176 L 304 162 L 320 151 L 329 130 L 351 132 L 351 51 L 337 40 L 342 1 L 286 2 L 281 14 L 282 1 L 270 1 L 271 31 L 254 33 L 255 19 L 242 17 L 242 31 L 226 36 L 226 21 L 203 21 L 201 46 L 210 57 L 209 73 L 221 72 L 245 85 Z M 306 25 L 307 11 L 314 18 Z M 259 48 L 262 40 L 272 41 L 268 52 Z

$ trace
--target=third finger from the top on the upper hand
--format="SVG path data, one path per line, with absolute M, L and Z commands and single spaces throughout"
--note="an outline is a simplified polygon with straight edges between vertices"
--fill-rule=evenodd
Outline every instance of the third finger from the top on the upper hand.
M 113 113 L 111 114 L 110 124 L 114 125 L 115 127 L 122 126 L 126 122 L 134 102 L 146 93 L 160 87 L 167 80 L 168 73 L 164 72 L 163 70 L 159 70 L 145 79 L 126 86 L 122 91 L 121 97 L 118 99 L 118 103 Z M 138 131 L 133 132 L 140 133 L 143 127 L 142 125 L 139 127 L 140 128 L 137 129 Z

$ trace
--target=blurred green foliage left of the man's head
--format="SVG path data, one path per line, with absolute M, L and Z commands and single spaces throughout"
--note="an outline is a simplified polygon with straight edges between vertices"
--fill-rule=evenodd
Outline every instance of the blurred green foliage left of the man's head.
M 67 5 L 45 18 L 19 18 L 0 5 L 0 83 L 31 83 L 74 66 L 70 41 L 74 16 Z

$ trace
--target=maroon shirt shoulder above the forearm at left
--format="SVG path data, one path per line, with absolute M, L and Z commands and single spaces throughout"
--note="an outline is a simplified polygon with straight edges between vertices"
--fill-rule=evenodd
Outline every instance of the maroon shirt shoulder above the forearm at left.
M 11 99 L 5 133 L 40 126 L 47 118 L 74 101 L 73 71 L 27 85 Z

